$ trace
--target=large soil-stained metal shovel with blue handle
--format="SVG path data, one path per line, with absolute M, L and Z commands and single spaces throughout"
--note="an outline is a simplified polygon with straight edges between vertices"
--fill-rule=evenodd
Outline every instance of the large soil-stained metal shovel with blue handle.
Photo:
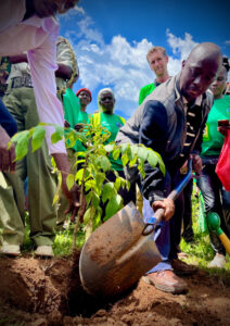
M 189 172 L 168 198 L 175 200 L 192 177 Z M 162 261 L 153 231 L 162 221 L 158 209 L 148 223 L 130 202 L 97 228 L 82 247 L 79 273 L 82 287 L 92 296 L 113 297 L 133 286 Z M 154 221 L 153 221 L 154 220 Z

